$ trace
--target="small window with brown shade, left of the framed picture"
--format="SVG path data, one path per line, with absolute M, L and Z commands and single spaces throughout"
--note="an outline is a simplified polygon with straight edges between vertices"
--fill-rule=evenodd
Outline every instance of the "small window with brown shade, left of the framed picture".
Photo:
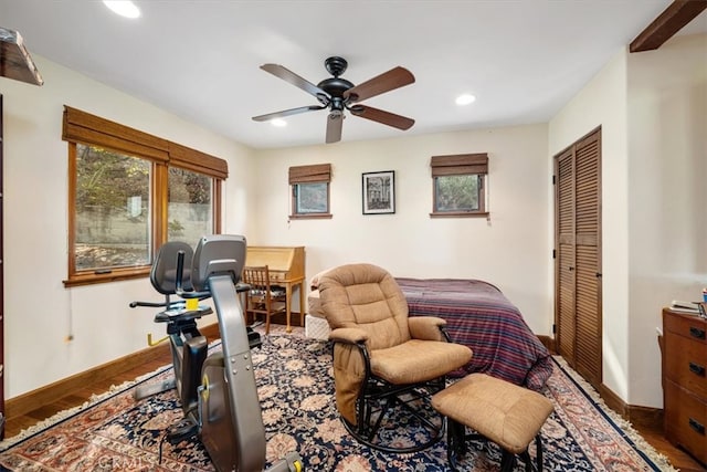
M 292 214 L 289 218 L 331 218 L 330 180 L 330 164 L 291 167 Z

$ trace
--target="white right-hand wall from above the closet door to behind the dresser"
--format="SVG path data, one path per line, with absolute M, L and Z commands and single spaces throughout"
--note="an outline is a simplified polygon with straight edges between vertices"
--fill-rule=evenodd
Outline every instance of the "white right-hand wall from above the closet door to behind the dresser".
M 662 408 L 656 327 L 707 285 L 707 35 L 621 50 L 549 124 L 553 156 L 602 127 L 603 384 Z

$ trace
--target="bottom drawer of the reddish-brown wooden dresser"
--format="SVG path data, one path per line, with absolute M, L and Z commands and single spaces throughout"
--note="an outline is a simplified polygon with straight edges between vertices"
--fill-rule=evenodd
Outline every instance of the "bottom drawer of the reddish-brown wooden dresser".
M 707 463 L 707 403 L 665 381 L 665 436 Z

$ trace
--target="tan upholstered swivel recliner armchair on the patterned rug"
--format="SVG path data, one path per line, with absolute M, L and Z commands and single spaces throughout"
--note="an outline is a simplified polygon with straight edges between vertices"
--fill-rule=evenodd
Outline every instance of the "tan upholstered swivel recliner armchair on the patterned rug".
M 384 451 L 412 452 L 436 442 L 443 421 L 429 397 L 445 376 L 472 358 L 468 347 L 449 342 L 446 322 L 408 317 L 408 303 L 393 276 L 372 264 L 349 264 L 319 279 L 321 308 L 331 327 L 336 405 L 349 432 Z M 404 411 L 404 421 L 393 418 Z M 389 445 L 382 432 L 410 418 L 426 431 L 415 443 Z

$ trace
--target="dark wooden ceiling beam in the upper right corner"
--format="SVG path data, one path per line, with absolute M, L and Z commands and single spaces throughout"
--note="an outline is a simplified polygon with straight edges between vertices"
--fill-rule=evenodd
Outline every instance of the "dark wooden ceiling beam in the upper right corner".
M 631 42 L 629 51 L 653 51 L 673 38 L 707 8 L 707 0 L 674 0 L 653 23 Z

